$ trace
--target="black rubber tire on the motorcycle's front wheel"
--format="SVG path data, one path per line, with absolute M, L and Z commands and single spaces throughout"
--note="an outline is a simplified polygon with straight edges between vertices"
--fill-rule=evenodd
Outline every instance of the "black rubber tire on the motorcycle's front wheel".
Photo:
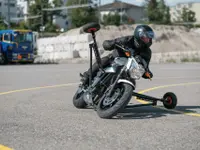
M 106 99 L 106 94 L 102 96 L 97 106 L 97 114 L 100 118 L 111 119 L 113 116 L 117 115 L 124 107 L 129 103 L 132 93 L 133 87 L 127 83 L 118 84 L 117 88 L 120 88 L 121 92 L 119 94 L 119 99 L 114 101 L 114 105 L 111 107 L 104 109 L 103 102 Z

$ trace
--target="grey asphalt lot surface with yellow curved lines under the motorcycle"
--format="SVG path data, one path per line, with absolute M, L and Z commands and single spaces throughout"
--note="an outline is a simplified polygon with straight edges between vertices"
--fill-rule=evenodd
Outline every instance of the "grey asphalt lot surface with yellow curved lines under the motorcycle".
M 74 83 L 88 66 L 0 66 L 0 149 L 199 150 L 200 64 L 152 64 L 154 79 L 137 82 L 136 91 L 151 96 L 176 93 L 174 111 L 126 109 L 110 120 L 72 104 Z

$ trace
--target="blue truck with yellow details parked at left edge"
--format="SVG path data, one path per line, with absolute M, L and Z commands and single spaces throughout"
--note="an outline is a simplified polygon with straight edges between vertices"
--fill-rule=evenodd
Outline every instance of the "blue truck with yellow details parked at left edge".
M 0 63 L 34 62 L 36 50 L 31 30 L 0 31 Z

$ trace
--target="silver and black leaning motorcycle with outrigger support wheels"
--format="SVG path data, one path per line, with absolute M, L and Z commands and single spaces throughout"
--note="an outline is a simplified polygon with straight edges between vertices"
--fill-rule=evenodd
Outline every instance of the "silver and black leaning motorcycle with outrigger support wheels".
M 73 97 L 73 104 L 76 108 L 92 106 L 100 118 L 110 119 L 126 107 L 147 105 L 127 106 L 132 96 L 151 101 L 150 105 L 156 105 L 157 101 L 162 101 L 167 109 L 176 107 L 177 98 L 172 92 L 166 93 L 161 99 L 133 92 L 136 88 L 136 80 L 139 80 L 145 73 L 150 78 L 145 62 L 140 59 L 138 61 L 138 58 L 133 57 L 133 49 L 116 44 L 115 46 L 122 49 L 126 57 L 116 57 L 109 66 L 103 68 L 95 38 L 95 32 L 100 29 L 100 25 L 88 23 L 82 29 L 83 32 L 92 34 L 93 38 L 93 43 L 89 44 L 90 74 L 92 74 L 93 50 L 99 71 L 93 79 L 90 76 L 89 85 L 80 83 Z

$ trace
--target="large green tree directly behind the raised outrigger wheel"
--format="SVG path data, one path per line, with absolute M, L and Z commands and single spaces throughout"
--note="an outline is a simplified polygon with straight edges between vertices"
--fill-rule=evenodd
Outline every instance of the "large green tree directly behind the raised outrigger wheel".
M 76 4 L 93 4 L 91 0 L 68 0 L 67 6 Z M 68 10 L 72 28 L 80 27 L 88 22 L 98 21 L 97 9 L 94 7 L 73 8 Z

